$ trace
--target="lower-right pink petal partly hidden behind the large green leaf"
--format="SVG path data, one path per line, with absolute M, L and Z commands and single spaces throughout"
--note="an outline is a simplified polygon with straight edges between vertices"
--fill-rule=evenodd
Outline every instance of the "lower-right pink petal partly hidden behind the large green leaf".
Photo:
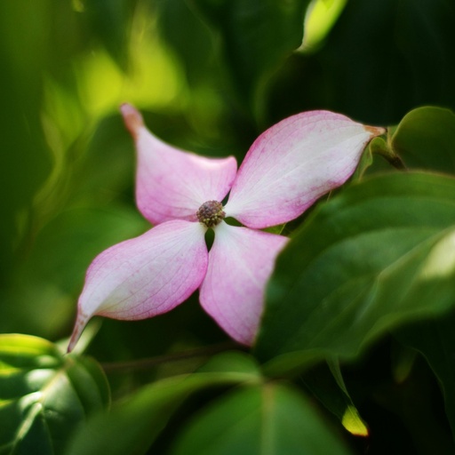
M 275 257 L 287 240 L 282 235 L 236 228 L 225 222 L 215 228 L 200 301 L 220 327 L 240 343 L 251 345 L 254 341 L 265 286 Z

